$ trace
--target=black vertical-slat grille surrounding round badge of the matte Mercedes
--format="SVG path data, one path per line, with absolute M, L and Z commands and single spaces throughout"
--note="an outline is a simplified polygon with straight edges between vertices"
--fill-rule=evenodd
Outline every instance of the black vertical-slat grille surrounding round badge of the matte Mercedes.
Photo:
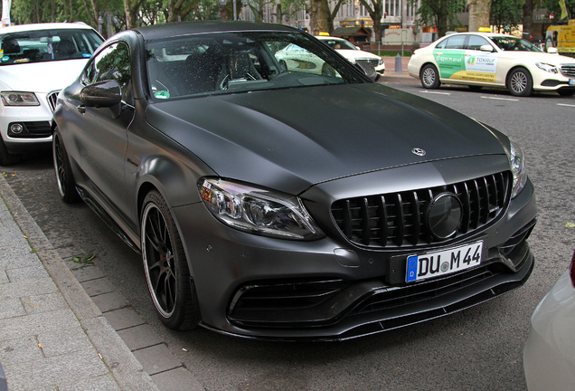
M 335 201 L 335 224 L 351 242 L 372 248 L 395 248 L 439 242 L 427 227 L 429 203 L 445 192 L 457 195 L 463 217 L 456 234 L 470 234 L 491 223 L 509 202 L 510 173 L 489 176 L 419 190 Z

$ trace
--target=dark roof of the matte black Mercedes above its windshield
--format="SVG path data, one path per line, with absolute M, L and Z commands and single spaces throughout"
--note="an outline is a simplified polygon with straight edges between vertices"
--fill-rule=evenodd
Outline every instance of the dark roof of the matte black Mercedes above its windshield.
M 134 29 L 145 40 L 156 40 L 178 35 L 193 33 L 225 33 L 239 31 L 274 31 L 274 32 L 297 32 L 294 27 L 282 24 L 254 23 L 243 21 L 191 21 L 170 24 L 154 24 Z

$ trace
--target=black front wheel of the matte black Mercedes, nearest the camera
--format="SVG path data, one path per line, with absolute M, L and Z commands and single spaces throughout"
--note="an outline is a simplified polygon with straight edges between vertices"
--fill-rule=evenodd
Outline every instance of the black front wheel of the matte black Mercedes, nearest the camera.
M 170 329 L 193 329 L 199 317 L 184 246 L 159 192 L 147 194 L 141 222 L 142 262 L 156 312 Z

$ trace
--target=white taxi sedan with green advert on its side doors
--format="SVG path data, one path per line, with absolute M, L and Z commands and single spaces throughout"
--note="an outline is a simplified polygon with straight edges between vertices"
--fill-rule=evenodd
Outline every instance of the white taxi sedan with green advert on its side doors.
M 408 64 L 410 76 L 423 87 L 443 83 L 471 89 L 504 87 L 514 96 L 533 91 L 575 93 L 575 59 L 541 49 L 521 38 L 500 33 L 453 33 L 416 50 Z

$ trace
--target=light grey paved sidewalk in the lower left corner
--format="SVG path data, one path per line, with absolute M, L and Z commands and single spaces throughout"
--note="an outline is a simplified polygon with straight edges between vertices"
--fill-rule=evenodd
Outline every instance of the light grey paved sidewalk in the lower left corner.
M 3 176 L 0 365 L 10 391 L 159 389 Z

